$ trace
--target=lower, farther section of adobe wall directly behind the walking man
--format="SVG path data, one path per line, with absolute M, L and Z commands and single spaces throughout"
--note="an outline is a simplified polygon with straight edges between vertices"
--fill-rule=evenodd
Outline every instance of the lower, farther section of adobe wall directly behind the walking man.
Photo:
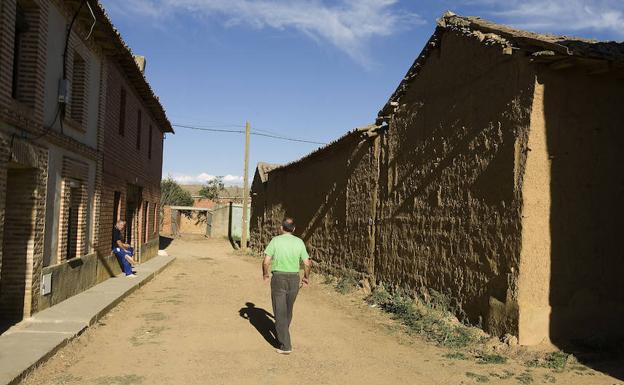
M 295 233 L 321 268 L 372 272 L 374 173 L 374 145 L 358 133 L 300 163 L 273 170 L 268 183 L 254 183 L 252 189 L 252 247 L 263 250 L 290 216 L 296 221 Z

